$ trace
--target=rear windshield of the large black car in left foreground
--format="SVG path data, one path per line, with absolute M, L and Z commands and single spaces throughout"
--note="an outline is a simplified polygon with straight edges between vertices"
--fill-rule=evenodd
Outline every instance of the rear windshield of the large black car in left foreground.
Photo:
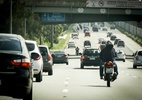
M 0 50 L 21 51 L 20 40 L 16 37 L 0 36 Z

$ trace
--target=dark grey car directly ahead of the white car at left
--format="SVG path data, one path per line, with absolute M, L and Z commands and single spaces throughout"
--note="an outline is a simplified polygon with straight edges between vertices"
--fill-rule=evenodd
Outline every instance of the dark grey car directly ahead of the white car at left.
M 53 59 L 47 45 L 38 45 L 43 59 L 43 72 L 48 72 L 48 75 L 53 75 Z

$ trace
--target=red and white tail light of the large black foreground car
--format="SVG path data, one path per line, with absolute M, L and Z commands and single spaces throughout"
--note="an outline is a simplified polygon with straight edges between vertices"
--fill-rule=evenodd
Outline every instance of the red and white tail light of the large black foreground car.
M 11 60 L 11 64 L 14 66 L 22 66 L 22 67 L 26 67 L 26 68 L 30 68 L 30 60 L 29 59 L 15 59 L 15 60 Z

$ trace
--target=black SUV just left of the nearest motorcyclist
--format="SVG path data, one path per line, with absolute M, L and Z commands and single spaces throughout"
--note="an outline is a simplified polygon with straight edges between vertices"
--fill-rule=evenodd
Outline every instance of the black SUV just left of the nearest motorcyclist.
M 85 48 L 81 53 L 80 68 L 84 66 L 99 66 L 100 65 L 100 51 L 97 48 Z

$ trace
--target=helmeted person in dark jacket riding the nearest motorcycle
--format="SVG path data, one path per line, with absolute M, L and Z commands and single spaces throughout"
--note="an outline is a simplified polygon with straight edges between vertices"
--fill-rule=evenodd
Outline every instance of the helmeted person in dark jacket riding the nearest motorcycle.
M 118 68 L 117 68 L 117 64 L 114 62 L 114 58 L 116 56 L 117 55 L 115 53 L 115 49 L 113 48 L 113 44 L 108 42 L 106 44 L 106 47 L 100 52 L 100 59 L 101 59 L 101 63 L 100 63 L 100 79 L 103 79 L 103 66 L 102 65 L 107 61 L 111 61 L 115 65 L 115 67 L 114 67 L 115 76 L 113 77 L 113 80 L 115 80 L 117 78 Z

